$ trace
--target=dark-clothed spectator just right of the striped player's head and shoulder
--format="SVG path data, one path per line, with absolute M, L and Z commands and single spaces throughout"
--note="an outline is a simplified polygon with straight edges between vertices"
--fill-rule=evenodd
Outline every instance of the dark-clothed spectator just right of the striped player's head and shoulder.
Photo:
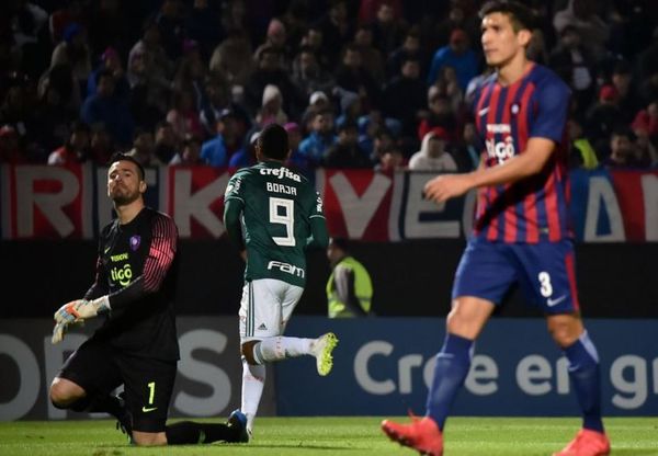
M 574 91 L 576 111 L 585 114 L 595 93 L 594 59 L 585 48 L 575 25 L 565 25 L 548 65 Z

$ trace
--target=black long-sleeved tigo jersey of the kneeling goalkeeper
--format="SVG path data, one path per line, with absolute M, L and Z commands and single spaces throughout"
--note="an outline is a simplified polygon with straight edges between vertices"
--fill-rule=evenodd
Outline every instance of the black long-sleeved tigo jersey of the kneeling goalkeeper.
M 179 360 L 173 300 L 178 229 L 145 207 L 128 224 L 114 219 L 101 232 L 95 283 L 84 297 L 105 294 L 112 310 L 94 338 L 127 354 Z

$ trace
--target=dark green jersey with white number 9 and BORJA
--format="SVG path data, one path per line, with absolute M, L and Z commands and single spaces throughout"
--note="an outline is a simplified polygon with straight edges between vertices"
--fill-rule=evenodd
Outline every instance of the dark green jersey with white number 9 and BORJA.
M 225 202 L 234 200 L 241 203 L 245 278 L 304 286 L 305 248 L 314 238 L 327 238 L 322 200 L 310 182 L 281 162 L 263 161 L 232 175 Z

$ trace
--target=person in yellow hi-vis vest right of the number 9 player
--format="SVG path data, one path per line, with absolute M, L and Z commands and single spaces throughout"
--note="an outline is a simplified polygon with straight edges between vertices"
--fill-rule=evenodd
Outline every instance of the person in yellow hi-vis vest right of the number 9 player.
M 370 315 L 373 283 L 365 266 L 352 256 L 348 240 L 330 239 L 327 258 L 332 270 L 327 281 L 329 318 L 354 318 Z

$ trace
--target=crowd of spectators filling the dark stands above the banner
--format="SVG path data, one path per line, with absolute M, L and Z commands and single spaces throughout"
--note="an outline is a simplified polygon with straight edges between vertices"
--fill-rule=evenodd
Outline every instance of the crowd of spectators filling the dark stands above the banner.
M 10 0 L 0 162 L 468 171 L 481 1 Z M 527 1 L 530 57 L 570 86 L 570 166 L 658 167 L 658 4 Z

